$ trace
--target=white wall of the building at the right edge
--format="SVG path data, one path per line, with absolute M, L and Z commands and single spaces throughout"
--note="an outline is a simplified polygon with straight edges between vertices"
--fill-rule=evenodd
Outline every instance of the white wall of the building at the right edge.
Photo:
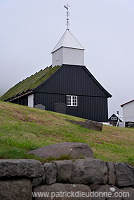
M 125 122 L 134 122 L 134 101 L 123 106 L 123 119 Z

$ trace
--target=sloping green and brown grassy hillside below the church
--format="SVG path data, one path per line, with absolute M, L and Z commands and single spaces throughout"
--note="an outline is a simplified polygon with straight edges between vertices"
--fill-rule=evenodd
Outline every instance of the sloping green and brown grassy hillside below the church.
M 27 152 L 58 142 L 84 142 L 95 158 L 134 165 L 134 129 L 105 125 L 98 132 L 65 119 L 81 120 L 0 101 L 0 158 L 35 158 Z

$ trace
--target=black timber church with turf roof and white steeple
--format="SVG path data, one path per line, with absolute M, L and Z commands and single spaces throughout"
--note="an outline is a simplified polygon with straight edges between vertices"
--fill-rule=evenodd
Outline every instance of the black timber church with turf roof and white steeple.
M 19 82 L 1 100 L 106 122 L 109 97 L 84 66 L 84 49 L 67 29 L 52 51 L 52 66 Z

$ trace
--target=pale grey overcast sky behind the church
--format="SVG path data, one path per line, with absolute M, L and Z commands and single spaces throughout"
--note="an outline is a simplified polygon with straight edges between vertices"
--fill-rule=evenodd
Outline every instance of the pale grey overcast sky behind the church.
M 85 66 L 112 94 L 109 115 L 134 99 L 134 0 L 0 0 L 0 95 L 52 64 L 66 30 L 85 48 Z

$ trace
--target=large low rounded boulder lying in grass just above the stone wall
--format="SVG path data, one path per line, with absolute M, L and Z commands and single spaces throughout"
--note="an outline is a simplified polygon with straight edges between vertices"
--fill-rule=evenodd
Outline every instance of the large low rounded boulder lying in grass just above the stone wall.
M 59 158 L 62 156 L 68 156 L 69 158 L 93 158 L 93 152 L 91 148 L 84 143 L 78 142 L 65 142 L 52 144 L 30 151 L 34 155 L 42 158 Z

